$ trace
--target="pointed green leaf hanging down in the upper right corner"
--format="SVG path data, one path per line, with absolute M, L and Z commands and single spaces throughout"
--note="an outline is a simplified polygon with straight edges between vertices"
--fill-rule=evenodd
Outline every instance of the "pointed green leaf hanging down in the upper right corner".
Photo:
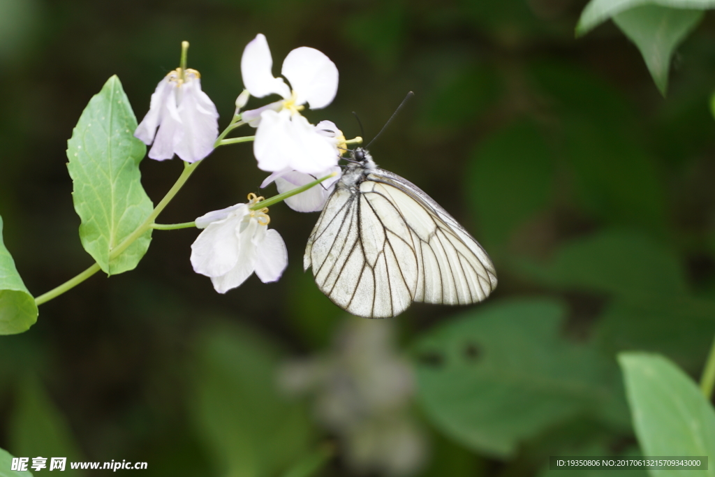
M 644 5 L 613 16 L 618 28 L 641 50 L 661 94 L 668 89 L 671 57 L 678 45 L 703 18 L 701 10 Z

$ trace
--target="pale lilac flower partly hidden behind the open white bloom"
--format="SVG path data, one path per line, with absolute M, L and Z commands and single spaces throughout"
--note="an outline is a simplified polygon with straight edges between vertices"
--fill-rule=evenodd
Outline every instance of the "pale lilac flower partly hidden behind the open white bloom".
M 321 121 L 315 127 L 316 132 L 322 137 L 327 139 L 327 142 L 333 144 L 335 147 L 345 147 L 345 137 L 342 135 L 340 129 L 337 129 L 335 123 L 330 121 Z M 332 191 L 335 189 L 335 183 L 340 180 L 340 167 L 332 166 L 325 171 L 318 172 L 317 174 L 305 174 L 303 172 L 297 172 L 290 168 L 285 168 L 281 171 L 273 172 L 270 176 L 266 177 L 266 180 L 261 184 L 261 188 L 266 187 L 271 182 L 275 181 L 275 185 L 278 192 L 281 194 L 306 185 L 309 182 L 320 179 L 320 177 L 325 177 L 328 174 L 335 172 L 335 177 L 324 180 L 315 187 L 311 187 L 305 192 L 300 192 L 300 194 L 288 197 L 285 203 L 292 210 L 296 212 L 318 212 L 322 210 L 325 206 L 327 198 L 330 197 Z

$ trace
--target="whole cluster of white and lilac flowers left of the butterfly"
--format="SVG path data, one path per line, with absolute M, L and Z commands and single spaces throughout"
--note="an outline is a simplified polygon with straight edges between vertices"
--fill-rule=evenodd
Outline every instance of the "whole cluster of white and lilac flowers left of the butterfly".
M 243 124 L 256 129 L 253 152 L 260 169 L 271 172 L 261 187 L 275 182 L 283 194 L 306 189 L 285 201 L 298 212 L 322 210 L 340 176 L 337 162 L 345 151 L 345 137 L 334 123 L 310 124 L 301 112 L 321 109 L 337 93 L 335 64 L 317 49 L 302 46 L 290 51 L 283 61 L 282 77 L 274 77 L 273 59 L 262 34 L 245 47 L 241 74 L 245 91 L 236 100 L 229 127 L 218 134 L 218 113 L 202 92 L 199 72 L 187 69 L 184 42 L 181 67 L 169 72 L 152 94 L 149 112 L 134 136 L 152 145 L 149 157 L 171 159 L 176 154 L 187 163 L 207 157 L 215 147 L 244 139 L 224 139 Z M 278 95 L 279 100 L 241 111 L 250 97 Z M 252 139 L 246 137 L 245 140 Z M 307 188 L 319 177 L 332 178 Z M 211 278 L 217 292 L 238 287 L 253 272 L 263 282 L 278 280 L 287 265 L 285 243 L 268 229 L 267 209 L 262 197 L 250 195 L 248 203 L 209 212 L 194 223 L 203 229 L 192 245 L 194 271 Z M 260 210 L 255 210 L 260 209 Z

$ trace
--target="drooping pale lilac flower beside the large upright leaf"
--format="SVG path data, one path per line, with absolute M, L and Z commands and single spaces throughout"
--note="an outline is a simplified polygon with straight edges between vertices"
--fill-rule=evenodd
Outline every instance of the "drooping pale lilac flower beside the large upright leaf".
M 199 161 L 212 152 L 218 137 L 219 114 L 201 90 L 199 72 L 187 69 L 183 80 L 180 73 L 177 68 L 159 82 L 149 112 L 134 132 L 147 146 L 154 143 L 149 157 L 159 161 L 174 153 L 186 162 Z

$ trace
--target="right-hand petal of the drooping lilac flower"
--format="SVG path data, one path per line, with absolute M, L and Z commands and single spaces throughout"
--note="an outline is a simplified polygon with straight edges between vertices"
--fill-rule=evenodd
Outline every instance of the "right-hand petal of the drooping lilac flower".
M 184 161 L 196 162 L 214 150 L 219 135 L 219 114 L 208 95 L 202 92 L 200 79 L 187 77 L 181 89 L 183 97 L 178 112 L 184 134 L 174 151 Z

